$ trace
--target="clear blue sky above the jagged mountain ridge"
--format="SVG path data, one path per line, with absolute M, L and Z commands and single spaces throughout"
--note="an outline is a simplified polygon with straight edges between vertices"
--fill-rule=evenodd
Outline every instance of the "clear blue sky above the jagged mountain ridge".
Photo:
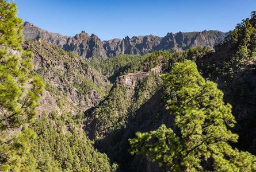
M 234 29 L 256 0 L 15 0 L 18 15 L 42 29 L 101 40 L 167 32 Z

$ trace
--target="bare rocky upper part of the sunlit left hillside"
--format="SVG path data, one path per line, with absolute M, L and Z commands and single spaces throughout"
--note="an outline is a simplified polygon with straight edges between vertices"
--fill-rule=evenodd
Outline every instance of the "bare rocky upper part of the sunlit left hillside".
M 33 52 L 34 71 L 46 84 L 39 114 L 45 111 L 84 112 L 100 103 L 110 83 L 94 68 L 48 41 L 26 41 L 24 49 Z

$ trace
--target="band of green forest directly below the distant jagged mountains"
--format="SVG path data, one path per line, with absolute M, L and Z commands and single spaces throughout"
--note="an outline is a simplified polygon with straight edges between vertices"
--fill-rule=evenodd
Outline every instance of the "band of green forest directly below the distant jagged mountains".
M 161 66 L 163 69 L 170 69 L 174 62 L 182 62 L 185 59 L 196 61 L 197 58 L 211 54 L 211 49 L 201 46 L 191 48 L 184 52 L 155 51 L 144 56 L 135 56 L 128 54 L 120 54 L 119 56 L 98 60 L 93 58 L 90 65 L 96 69 L 100 69 L 102 75 L 114 82 L 116 77 L 127 73 L 136 73 L 139 71 L 147 72 L 152 68 Z

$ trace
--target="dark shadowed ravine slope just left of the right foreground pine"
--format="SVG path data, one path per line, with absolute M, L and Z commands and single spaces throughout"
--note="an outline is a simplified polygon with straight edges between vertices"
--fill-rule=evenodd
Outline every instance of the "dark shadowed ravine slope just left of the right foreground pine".
M 151 94 L 133 115 L 127 119 L 126 126 L 121 131 L 114 131 L 109 138 L 97 142 L 96 146 L 108 154 L 112 161 L 119 163 L 120 171 L 163 171 L 150 159 L 142 155 L 132 156 L 129 153 L 129 138 L 134 138 L 137 131 L 148 132 L 156 130 L 161 124 L 171 127 L 173 116 L 165 108 L 163 89 Z

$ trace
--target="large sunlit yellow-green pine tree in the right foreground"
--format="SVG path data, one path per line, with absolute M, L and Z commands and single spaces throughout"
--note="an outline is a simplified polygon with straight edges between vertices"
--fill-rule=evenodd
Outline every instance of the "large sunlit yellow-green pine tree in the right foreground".
M 156 131 L 140 133 L 129 139 L 132 154 L 143 154 L 167 170 L 174 171 L 254 171 L 256 157 L 234 150 L 236 142 L 231 105 L 224 104 L 217 84 L 206 81 L 196 64 L 177 62 L 163 75 L 166 108 L 175 115 L 174 128 L 162 125 Z M 205 163 L 212 167 L 209 169 Z

